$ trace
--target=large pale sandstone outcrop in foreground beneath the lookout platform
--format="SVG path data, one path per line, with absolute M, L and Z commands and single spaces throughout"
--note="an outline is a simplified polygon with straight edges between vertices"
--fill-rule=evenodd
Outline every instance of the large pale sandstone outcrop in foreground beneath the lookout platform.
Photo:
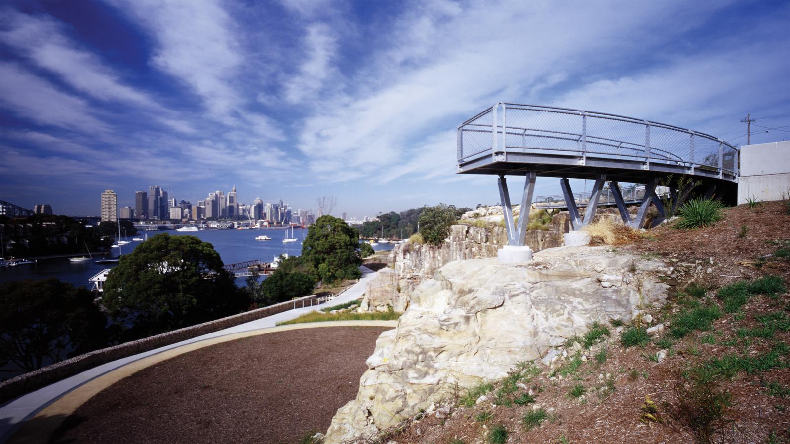
M 338 410 L 326 442 L 373 436 L 459 386 L 503 378 L 592 322 L 629 321 L 642 304 L 666 298 L 655 276 L 662 267 L 605 246 L 551 248 L 525 264 L 444 265 L 378 338 L 359 393 Z

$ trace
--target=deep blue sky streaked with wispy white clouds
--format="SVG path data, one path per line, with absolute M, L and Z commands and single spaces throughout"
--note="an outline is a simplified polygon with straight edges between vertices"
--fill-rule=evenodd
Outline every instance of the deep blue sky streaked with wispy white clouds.
M 493 203 L 495 178 L 454 174 L 455 128 L 498 101 L 790 137 L 784 0 L 6 1 L 0 51 L 0 199 L 55 213 L 149 185 L 349 216 Z

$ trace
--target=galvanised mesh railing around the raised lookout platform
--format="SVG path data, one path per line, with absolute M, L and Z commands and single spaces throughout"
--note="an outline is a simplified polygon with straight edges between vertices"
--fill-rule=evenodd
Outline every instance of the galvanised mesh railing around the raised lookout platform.
M 738 175 L 738 149 L 709 134 L 648 120 L 559 107 L 497 103 L 458 126 L 462 164 L 498 152 L 641 160 Z

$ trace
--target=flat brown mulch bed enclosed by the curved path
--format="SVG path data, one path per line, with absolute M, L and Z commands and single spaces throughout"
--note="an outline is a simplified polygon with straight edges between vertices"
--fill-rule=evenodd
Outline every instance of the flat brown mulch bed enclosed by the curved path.
M 298 329 L 177 356 L 92 397 L 52 441 L 299 441 L 356 396 L 386 329 Z

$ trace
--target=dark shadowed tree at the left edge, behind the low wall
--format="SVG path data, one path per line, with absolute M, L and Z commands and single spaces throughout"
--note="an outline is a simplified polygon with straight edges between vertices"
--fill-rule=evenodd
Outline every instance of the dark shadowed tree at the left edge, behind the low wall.
M 51 277 L 0 286 L 0 356 L 34 371 L 107 345 L 106 318 L 84 287 Z

